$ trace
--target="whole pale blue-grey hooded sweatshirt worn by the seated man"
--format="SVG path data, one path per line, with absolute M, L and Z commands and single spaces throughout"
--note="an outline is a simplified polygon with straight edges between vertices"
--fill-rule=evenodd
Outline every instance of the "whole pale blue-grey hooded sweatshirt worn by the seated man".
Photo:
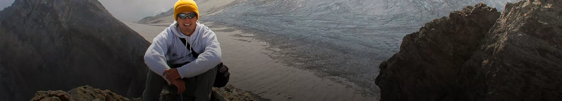
M 179 38 L 185 38 L 191 46 L 185 46 Z M 189 47 L 199 53 L 197 58 L 193 58 Z M 171 84 L 162 74 L 170 68 L 166 64 L 166 59 L 172 65 L 191 62 L 178 68 L 179 75 L 188 78 L 202 74 L 221 63 L 221 53 L 216 34 L 209 27 L 197 21 L 196 30 L 191 36 L 187 36 L 179 31 L 178 22 L 174 21 L 152 40 L 152 44 L 144 54 L 144 63 Z

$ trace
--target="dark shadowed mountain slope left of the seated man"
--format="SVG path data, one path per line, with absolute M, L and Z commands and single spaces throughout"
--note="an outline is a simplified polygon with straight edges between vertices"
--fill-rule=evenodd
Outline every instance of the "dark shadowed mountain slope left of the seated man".
M 16 0 L 0 11 L 0 100 L 82 85 L 140 97 L 148 45 L 96 0 Z

